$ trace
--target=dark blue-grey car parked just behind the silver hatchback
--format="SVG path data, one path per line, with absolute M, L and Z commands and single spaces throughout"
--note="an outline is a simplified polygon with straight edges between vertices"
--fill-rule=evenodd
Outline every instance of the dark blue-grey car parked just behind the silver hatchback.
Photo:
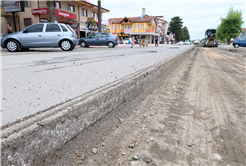
M 111 33 L 94 33 L 89 37 L 79 39 L 81 47 L 108 46 L 114 48 L 118 45 L 118 37 Z

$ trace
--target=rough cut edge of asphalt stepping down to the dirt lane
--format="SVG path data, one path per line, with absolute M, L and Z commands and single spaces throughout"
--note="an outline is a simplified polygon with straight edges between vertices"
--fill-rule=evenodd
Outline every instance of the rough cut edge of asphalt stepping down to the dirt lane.
M 1 129 L 0 160 L 3 165 L 30 165 L 38 157 L 61 148 L 122 103 L 151 93 L 193 50 Z

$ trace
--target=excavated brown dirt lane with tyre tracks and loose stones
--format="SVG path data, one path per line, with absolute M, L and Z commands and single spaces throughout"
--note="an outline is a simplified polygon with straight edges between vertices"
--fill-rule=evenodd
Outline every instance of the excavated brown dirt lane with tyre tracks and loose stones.
M 246 165 L 245 53 L 197 47 L 146 98 L 108 114 L 38 165 Z

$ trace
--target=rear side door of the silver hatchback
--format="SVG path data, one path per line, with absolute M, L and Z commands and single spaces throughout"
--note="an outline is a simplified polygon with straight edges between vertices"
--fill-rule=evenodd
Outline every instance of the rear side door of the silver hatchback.
M 58 47 L 63 38 L 63 32 L 58 24 L 48 23 L 45 27 L 44 42 L 47 47 Z

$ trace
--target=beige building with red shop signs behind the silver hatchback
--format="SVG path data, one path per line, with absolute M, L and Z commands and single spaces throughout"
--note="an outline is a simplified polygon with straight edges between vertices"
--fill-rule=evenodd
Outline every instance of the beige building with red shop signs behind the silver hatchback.
M 47 0 L 24 0 L 25 12 L 15 14 L 17 31 L 27 26 L 49 21 L 49 10 Z M 80 31 L 80 37 L 86 36 L 86 22 L 97 18 L 98 6 L 89 0 L 54 0 L 56 20 L 60 23 L 70 24 Z M 101 8 L 101 12 L 108 13 L 109 10 Z M 0 33 L 6 31 L 6 24 L 13 25 L 12 13 L 5 13 L 2 0 L 0 0 Z

